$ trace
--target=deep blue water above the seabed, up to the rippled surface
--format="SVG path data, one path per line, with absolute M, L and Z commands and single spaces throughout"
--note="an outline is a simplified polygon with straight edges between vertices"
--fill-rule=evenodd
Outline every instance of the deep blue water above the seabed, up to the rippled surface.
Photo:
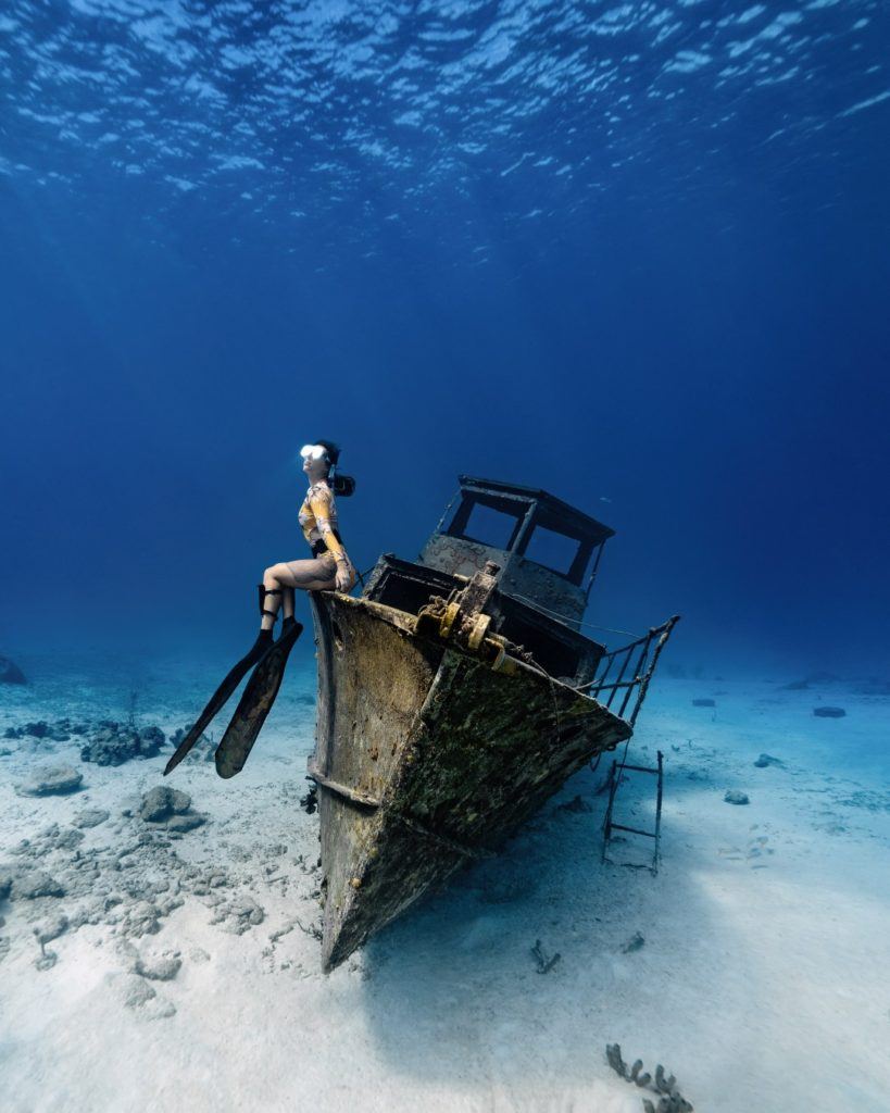
M 327 436 L 359 568 L 458 473 L 543 486 L 617 531 L 593 621 L 886 677 L 888 47 L 874 0 L 8 0 L 0 652 L 240 650 Z

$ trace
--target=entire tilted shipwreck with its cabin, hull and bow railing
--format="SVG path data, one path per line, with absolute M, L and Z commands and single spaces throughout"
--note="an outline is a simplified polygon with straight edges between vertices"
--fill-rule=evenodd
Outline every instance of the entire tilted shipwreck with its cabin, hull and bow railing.
M 679 618 L 611 651 L 585 637 L 614 531 L 546 491 L 458 482 L 416 561 L 310 595 L 326 971 L 629 739 Z

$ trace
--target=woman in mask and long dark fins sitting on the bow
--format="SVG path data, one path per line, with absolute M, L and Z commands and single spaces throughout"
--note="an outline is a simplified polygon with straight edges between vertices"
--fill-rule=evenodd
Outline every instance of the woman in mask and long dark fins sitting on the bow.
M 165 777 L 179 765 L 248 670 L 255 667 L 216 750 L 216 770 L 220 777 L 234 777 L 240 772 L 278 695 L 288 654 L 303 632 L 303 624 L 294 618 L 294 590 L 348 592 L 355 585 L 356 572 L 339 534 L 334 501 L 335 493 L 350 495 L 355 491 L 355 480 L 337 472 L 340 450 L 333 441 L 305 444 L 299 454 L 309 489 L 297 520 L 313 555 L 309 560 L 271 564 L 263 573 L 263 583 L 257 585 L 260 613 L 257 640 L 210 697 L 195 726 L 167 762 Z M 274 641 L 273 628 L 279 605 L 284 615 L 281 632 Z

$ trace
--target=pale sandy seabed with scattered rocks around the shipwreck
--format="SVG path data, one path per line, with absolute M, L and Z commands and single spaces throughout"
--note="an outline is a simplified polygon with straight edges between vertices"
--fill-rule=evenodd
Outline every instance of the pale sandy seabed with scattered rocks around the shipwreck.
M 134 689 L 113 662 L 19 663 L 31 683 L 0 689 L 0 735 L 134 715 L 169 736 L 228 664 L 142 663 Z M 615 1042 L 698 1111 L 890 1110 L 888 695 L 661 676 L 629 752 L 665 755 L 656 877 L 621 864 L 647 861 L 644 839 L 601 863 L 607 756 L 325 976 L 299 806 L 314 687 L 294 661 L 229 781 L 201 755 L 162 778 L 169 745 L 112 767 L 81 760 L 85 737 L 0 739 L 4 1111 L 641 1113 Z M 79 789 L 19 795 L 59 765 Z M 651 826 L 652 780 L 622 786 L 620 821 Z M 161 784 L 204 823 L 146 824 Z M 546 973 L 538 940 L 560 956 Z

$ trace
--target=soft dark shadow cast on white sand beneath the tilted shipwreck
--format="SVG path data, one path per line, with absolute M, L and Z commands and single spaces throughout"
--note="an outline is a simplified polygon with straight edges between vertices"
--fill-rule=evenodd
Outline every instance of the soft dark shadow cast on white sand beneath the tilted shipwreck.
M 664 1056 L 678 1073 L 672 1055 L 685 1047 L 692 1060 L 706 1008 L 720 1007 L 702 946 L 728 946 L 695 880 L 704 851 L 665 824 L 657 877 L 602 864 L 606 798 L 596 789 L 607 768 L 578 774 L 498 858 L 459 874 L 368 943 L 368 1030 L 393 1071 L 464 1083 L 476 1096 L 488 1082 L 513 1095 L 505 1107 L 525 1107 L 523 1087 L 540 1097 L 607 1074 L 606 1042 L 624 1043 L 631 1060 Z M 676 787 L 686 785 L 701 789 Z M 590 810 L 564 807 L 576 796 Z M 626 850 L 651 860 L 649 840 Z M 560 955 L 547 973 L 532 953 L 537 940 L 545 958 Z M 753 1007 L 750 981 L 741 993 L 733 1007 Z

